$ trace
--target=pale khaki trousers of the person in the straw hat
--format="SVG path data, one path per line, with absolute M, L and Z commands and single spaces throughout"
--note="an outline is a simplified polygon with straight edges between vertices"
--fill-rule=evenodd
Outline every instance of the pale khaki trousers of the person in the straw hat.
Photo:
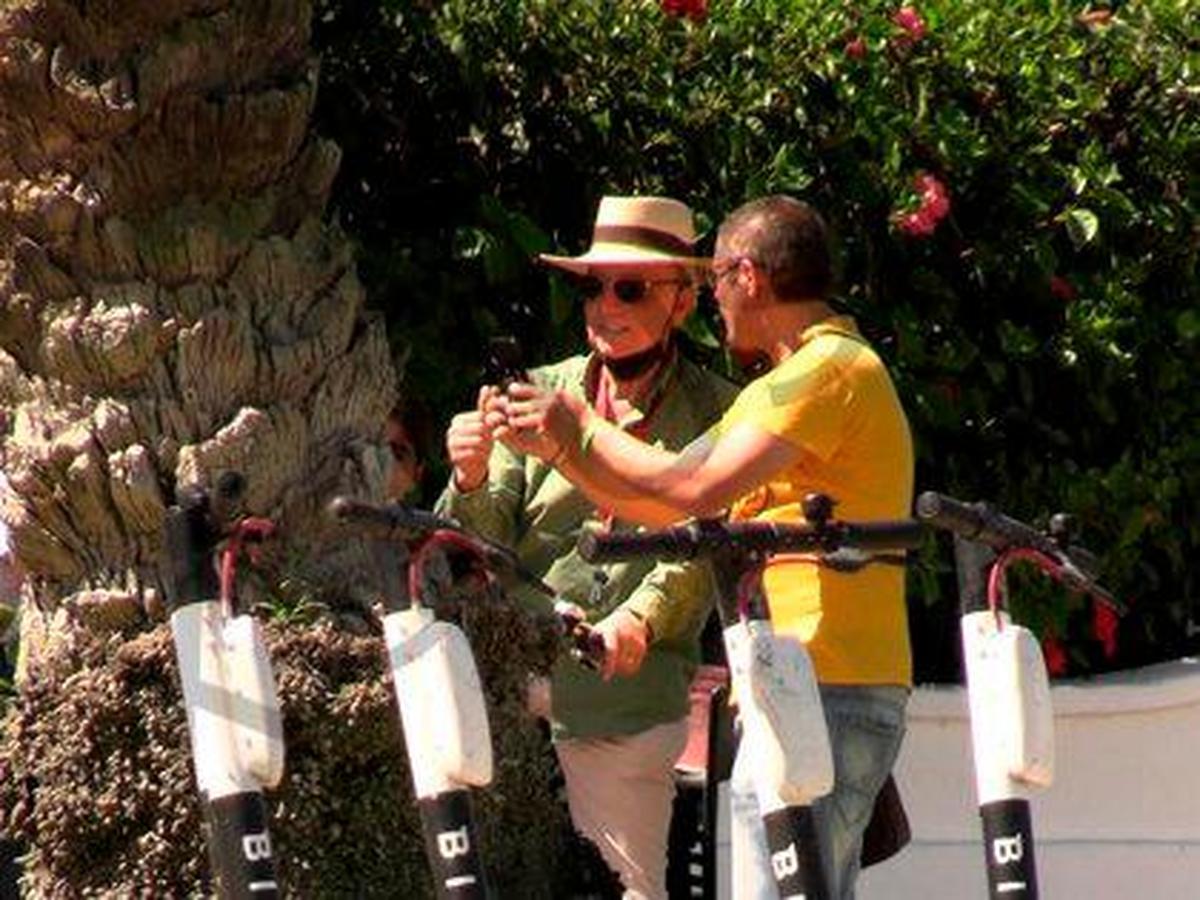
M 554 744 L 575 828 L 620 876 L 625 898 L 666 900 L 674 762 L 688 720 L 616 738 Z

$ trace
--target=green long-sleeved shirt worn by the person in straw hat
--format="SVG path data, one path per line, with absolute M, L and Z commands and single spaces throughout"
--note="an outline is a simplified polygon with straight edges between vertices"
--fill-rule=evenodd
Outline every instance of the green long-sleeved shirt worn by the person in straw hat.
M 590 401 L 595 366 L 592 356 L 572 356 L 534 371 L 532 378 Z M 644 415 L 648 439 L 678 451 L 713 425 L 736 395 L 728 382 L 679 358 L 649 392 L 641 415 L 622 424 L 632 427 Z M 463 493 L 451 478 L 437 510 L 512 547 L 562 599 L 582 606 L 589 622 L 625 606 L 650 625 L 653 643 L 630 678 L 605 682 L 565 654 L 558 659 L 551 674 L 556 739 L 634 734 L 686 715 L 697 637 L 713 604 L 707 564 L 636 559 L 600 566 L 608 581 L 604 598 L 594 602 L 596 566 L 580 558 L 577 544 L 584 529 L 604 527 L 606 515 L 551 466 L 502 444 L 492 450 L 487 484 Z M 612 523 L 614 530 L 632 527 L 619 520 Z M 515 598 L 539 610 L 548 605 L 533 589 L 517 589 Z

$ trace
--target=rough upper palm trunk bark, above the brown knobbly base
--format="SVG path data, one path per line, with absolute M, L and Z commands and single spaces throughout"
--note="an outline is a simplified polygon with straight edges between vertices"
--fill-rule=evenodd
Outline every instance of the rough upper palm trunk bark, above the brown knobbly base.
M 0 2 L 0 516 L 31 640 L 161 608 L 164 509 L 228 470 L 289 559 L 353 581 L 322 508 L 382 490 L 395 374 L 322 221 L 310 17 Z

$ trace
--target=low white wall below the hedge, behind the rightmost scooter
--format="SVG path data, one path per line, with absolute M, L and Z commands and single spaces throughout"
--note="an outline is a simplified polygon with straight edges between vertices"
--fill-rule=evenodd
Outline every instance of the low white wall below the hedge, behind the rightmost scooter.
M 1032 802 L 1048 900 L 1200 898 L 1200 661 L 1052 688 L 1055 784 Z M 966 695 L 923 688 L 898 780 L 913 842 L 859 900 L 986 898 Z

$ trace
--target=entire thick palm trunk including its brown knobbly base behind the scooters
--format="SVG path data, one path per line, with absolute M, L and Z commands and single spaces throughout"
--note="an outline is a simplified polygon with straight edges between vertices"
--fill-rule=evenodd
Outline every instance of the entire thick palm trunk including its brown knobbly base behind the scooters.
M 353 601 L 360 581 L 323 506 L 382 494 L 396 379 L 349 242 L 323 221 L 338 151 L 310 133 L 311 13 L 0 0 L 0 518 L 26 576 L 0 832 L 30 842 L 37 895 L 208 883 L 161 622 L 179 488 L 244 474 L 293 582 Z M 562 895 L 563 810 L 536 776 L 547 751 L 515 659 L 529 625 L 500 610 L 464 616 L 504 760 L 480 798 L 485 842 L 503 895 Z M 427 894 L 379 638 L 328 623 L 269 635 L 284 886 Z

